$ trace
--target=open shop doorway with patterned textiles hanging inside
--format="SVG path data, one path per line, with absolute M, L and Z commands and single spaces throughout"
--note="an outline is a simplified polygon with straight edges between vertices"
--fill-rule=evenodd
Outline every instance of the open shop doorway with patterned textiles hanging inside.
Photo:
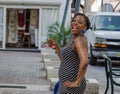
M 38 48 L 39 9 L 7 8 L 6 48 Z

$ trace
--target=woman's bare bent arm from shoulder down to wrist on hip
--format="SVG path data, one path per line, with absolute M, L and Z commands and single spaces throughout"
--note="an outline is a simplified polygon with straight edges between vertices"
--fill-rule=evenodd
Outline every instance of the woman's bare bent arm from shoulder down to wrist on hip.
M 89 63 L 87 41 L 84 37 L 77 37 L 74 40 L 74 45 L 80 59 L 79 72 L 78 72 L 77 79 L 75 81 L 75 84 L 79 85 L 83 80 L 83 78 L 85 77 L 85 73 Z

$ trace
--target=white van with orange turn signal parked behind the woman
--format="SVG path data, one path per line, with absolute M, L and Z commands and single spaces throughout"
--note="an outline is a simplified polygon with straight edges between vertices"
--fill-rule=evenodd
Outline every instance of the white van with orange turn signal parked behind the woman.
M 96 64 L 101 53 L 120 59 L 120 13 L 96 13 L 85 36 L 88 40 L 90 64 Z

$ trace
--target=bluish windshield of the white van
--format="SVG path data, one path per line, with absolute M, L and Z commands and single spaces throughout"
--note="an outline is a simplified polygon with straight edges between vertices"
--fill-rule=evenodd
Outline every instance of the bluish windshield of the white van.
M 95 30 L 120 31 L 120 16 L 96 16 Z

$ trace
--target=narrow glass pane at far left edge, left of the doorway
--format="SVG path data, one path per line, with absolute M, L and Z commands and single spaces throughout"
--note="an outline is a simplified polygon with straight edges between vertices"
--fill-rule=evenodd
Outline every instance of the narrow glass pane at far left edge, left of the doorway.
M 3 8 L 0 8 L 0 48 L 2 48 L 3 41 Z

